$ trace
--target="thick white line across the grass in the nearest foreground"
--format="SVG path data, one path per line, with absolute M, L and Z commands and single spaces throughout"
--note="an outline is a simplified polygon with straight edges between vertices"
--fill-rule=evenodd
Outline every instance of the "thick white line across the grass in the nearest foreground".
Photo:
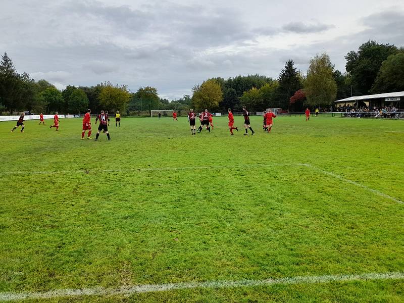
M 194 288 L 231 288 L 243 286 L 271 286 L 277 284 L 317 284 L 332 282 L 366 281 L 366 280 L 402 280 L 403 272 L 368 273 L 359 275 L 324 275 L 324 276 L 299 276 L 291 278 L 266 279 L 266 280 L 238 280 L 238 281 L 206 281 L 206 282 L 180 282 L 167 284 L 144 284 L 134 286 L 122 286 L 118 288 L 81 288 L 81 289 L 56 289 L 47 292 L 0 292 L 0 300 L 15 301 L 22 299 L 47 299 L 70 296 L 105 296 L 105 295 L 132 295 L 136 293 L 170 291 L 177 289 Z

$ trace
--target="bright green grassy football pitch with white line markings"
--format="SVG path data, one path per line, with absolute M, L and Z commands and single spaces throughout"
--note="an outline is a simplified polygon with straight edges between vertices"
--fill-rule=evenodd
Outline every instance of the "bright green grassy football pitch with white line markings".
M 0 123 L 0 300 L 404 301 L 404 121 L 51 122 Z

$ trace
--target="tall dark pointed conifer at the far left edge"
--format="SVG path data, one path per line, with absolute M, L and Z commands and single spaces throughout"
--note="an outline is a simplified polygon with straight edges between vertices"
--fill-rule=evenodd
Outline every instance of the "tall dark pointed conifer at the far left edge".
M 20 79 L 14 64 L 7 53 L 2 56 L 0 63 L 0 103 L 9 109 L 10 114 L 20 101 Z

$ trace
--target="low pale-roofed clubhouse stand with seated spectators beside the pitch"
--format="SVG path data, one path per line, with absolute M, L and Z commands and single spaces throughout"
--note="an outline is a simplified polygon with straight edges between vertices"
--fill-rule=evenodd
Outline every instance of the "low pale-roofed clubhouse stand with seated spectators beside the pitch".
M 354 106 L 356 108 L 365 107 L 372 109 L 374 107 L 394 106 L 397 109 L 404 108 L 404 91 L 378 93 L 373 95 L 354 96 L 335 101 L 335 107 Z

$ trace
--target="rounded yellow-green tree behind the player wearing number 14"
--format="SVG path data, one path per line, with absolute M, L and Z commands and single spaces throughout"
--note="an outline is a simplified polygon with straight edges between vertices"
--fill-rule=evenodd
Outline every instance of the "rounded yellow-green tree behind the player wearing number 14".
M 124 113 L 131 98 L 128 87 L 126 85 L 113 85 L 110 82 L 105 82 L 101 86 L 98 94 L 99 104 L 103 106 L 105 110 L 118 110 Z

